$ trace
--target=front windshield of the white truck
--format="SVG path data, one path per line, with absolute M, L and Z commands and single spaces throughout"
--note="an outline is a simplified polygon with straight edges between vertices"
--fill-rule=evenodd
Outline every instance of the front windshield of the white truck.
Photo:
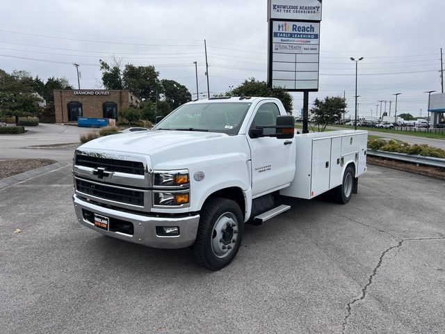
M 161 120 L 154 130 L 238 134 L 251 103 L 213 102 L 184 104 Z

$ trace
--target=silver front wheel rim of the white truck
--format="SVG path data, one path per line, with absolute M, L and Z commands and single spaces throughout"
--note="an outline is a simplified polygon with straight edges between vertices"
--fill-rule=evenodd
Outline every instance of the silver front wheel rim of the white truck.
M 232 212 L 225 212 L 216 220 L 211 235 L 211 250 L 216 257 L 232 253 L 238 240 L 238 219 Z

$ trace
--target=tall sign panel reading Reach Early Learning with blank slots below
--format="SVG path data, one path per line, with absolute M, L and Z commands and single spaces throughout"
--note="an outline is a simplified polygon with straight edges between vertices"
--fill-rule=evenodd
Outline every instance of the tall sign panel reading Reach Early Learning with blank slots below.
M 286 90 L 318 90 L 319 22 L 270 24 L 269 82 Z

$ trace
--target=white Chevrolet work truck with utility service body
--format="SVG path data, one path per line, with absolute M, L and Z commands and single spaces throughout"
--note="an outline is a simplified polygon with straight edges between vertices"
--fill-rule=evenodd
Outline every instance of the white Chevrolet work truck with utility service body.
M 327 191 L 340 203 L 366 171 L 364 131 L 294 134 L 280 100 L 188 102 L 153 129 L 115 134 L 74 154 L 74 208 L 88 228 L 155 248 L 191 246 L 198 263 L 231 262 L 244 223 L 285 212 L 282 196 Z

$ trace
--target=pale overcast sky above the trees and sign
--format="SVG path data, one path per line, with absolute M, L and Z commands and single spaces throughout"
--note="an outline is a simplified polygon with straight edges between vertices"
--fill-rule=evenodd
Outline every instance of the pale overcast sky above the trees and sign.
M 2 1 L 0 68 L 27 70 L 43 80 L 66 77 L 77 87 L 103 88 L 99 59 L 154 65 L 161 79 L 207 92 L 204 39 L 211 93 L 224 93 L 244 79 L 266 80 L 266 0 L 77 0 Z M 394 93 L 398 113 L 426 116 L 426 90 L 441 91 L 440 48 L 445 47 L 445 1 L 323 1 L 319 92 L 346 94 L 354 110 L 355 63 L 359 62 L 359 115 L 375 116 L 375 104 Z M 292 93 L 294 109 L 302 93 Z M 196 95 L 195 95 L 196 96 Z M 385 102 L 382 103 L 385 111 Z M 380 112 L 379 112 L 380 113 Z

